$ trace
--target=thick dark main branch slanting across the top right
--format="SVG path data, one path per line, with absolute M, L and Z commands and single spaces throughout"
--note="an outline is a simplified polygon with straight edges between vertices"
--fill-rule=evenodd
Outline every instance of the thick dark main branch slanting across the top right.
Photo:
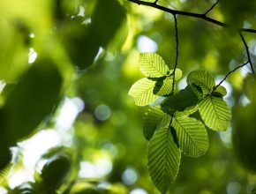
M 151 2 L 145 2 L 145 1 L 140 1 L 140 0 L 127 0 L 127 1 L 132 2 L 134 4 L 139 4 L 139 5 L 141 4 L 141 5 L 153 7 L 157 10 L 161 10 L 161 11 L 164 11 L 164 12 L 169 12 L 173 15 L 182 15 L 182 16 L 187 16 L 187 17 L 192 17 L 192 18 L 203 19 L 203 20 L 206 20 L 206 21 L 208 21 L 210 23 L 213 23 L 217 26 L 229 27 L 227 24 L 225 24 L 221 21 L 218 21 L 216 19 L 212 19 L 212 18 L 207 17 L 205 14 L 172 10 L 172 9 L 167 8 L 167 7 L 163 7 L 162 5 L 155 4 L 154 2 L 151 3 Z M 255 33 L 256 34 L 256 30 L 255 29 L 250 29 L 250 28 L 237 28 L 237 31 L 238 32 Z

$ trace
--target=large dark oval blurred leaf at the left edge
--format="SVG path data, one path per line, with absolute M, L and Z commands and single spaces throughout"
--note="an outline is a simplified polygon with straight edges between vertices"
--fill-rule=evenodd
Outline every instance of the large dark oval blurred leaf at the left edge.
M 61 86 L 61 75 L 49 59 L 37 61 L 26 71 L 0 110 L 0 139 L 4 150 L 34 131 L 53 111 Z

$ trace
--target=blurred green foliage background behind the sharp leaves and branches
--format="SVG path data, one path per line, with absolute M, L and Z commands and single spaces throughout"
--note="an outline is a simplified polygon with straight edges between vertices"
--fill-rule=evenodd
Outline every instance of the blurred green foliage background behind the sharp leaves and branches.
M 159 1 L 199 13 L 214 3 Z M 230 29 L 177 16 L 177 67 L 184 72 L 177 87 L 184 88 L 186 75 L 197 69 L 209 71 L 217 84 L 247 60 L 233 28 L 256 29 L 255 7 L 254 1 L 220 1 L 208 15 Z M 143 77 L 139 52 L 157 52 L 173 69 L 172 16 L 125 0 L 8 0 L 0 4 L 0 29 L 0 166 L 7 171 L 11 155 L 13 162 L 9 174 L 1 174 L 0 192 L 159 193 L 147 172 L 146 108 L 137 108 L 127 94 Z M 244 35 L 255 62 L 256 34 Z M 256 87 L 249 74 L 245 66 L 224 82 L 233 110 L 230 129 L 208 131 L 209 150 L 199 159 L 183 157 L 169 193 L 251 193 Z M 58 121 L 67 100 L 79 110 L 66 109 L 70 115 L 60 123 L 73 120 L 65 128 Z M 56 134 L 55 143 L 41 132 Z M 29 144 L 37 135 L 41 141 Z M 29 166 L 26 153 L 33 148 L 29 159 L 41 157 Z

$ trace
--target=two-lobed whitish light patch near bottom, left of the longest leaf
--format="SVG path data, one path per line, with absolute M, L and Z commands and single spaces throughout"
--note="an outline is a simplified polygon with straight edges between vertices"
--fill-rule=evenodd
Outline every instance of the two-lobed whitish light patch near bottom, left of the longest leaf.
M 79 177 L 81 178 L 100 178 L 109 175 L 113 164 L 109 158 L 101 158 L 95 163 L 89 161 L 80 162 Z

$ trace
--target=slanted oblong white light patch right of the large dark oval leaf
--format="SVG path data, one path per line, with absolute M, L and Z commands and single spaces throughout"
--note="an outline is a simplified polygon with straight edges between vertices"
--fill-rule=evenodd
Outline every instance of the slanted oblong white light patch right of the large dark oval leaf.
M 80 98 L 65 98 L 56 119 L 56 128 L 60 131 L 67 131 L 72 127 L 76 117 L 85 108 L 85 103 Z

